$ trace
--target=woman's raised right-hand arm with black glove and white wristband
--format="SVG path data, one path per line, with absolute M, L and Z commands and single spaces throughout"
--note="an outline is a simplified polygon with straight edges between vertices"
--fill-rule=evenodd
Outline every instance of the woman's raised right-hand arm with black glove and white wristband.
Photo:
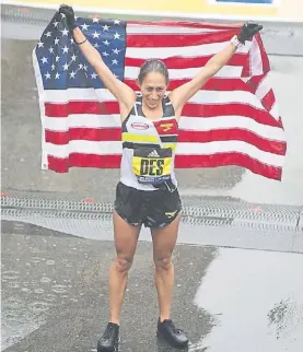
M 179 117 L 183 106 L 206 84 L 206 82 L 229 62 L 238 46 L 245 44 L 245 40 L 250 38 L 261 28 L 263 26 L 259 24 L 245 23 L 241 28 L 241 33 L 237 36 L 234 36 L 231 43 L 222 51 L 214 55 L 193 80 L 171 92 L 170 99 L 175 108 L 176 117 Z

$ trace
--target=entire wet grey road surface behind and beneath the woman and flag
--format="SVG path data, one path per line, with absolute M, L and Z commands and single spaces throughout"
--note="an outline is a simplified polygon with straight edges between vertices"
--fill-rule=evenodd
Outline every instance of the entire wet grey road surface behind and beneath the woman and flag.
M 63 206 L 57 213 L 26 210 L 18 191 L 44 197 L 45 207 L 47 197 L 68 200 L 71 193 L 112 202 L 119 172 L 40 171 L 32 67 L 39 32 L 18 20 L 3 23 L 1 36 L 1 200 L 20 197 L 18 206 L 2 210 L 1 350 L 95 352 L 107 322 L 107 275 L 115 255 L 112 218 L 69 218 Z M 291 36 L 281 38 L 280 45 L 290 47 Z M 182 224 L 174 251 L 172 317 L 188 332 L 193 352 L 303 348 L 303 59 L 272 55 L 270 62 L 289 141 L 282 181 L 240 167 L 177 171 L 182 196 L 195 196 L 195 209 L 206 214 L 205 222 L 188 216 Z M 230 219 L 235 203 L 219 201 L 220 211 L 209 211 L 208 218 L 206 199 L 212 208 L 217 203 L 211 199 L 232 199 L 245 212 L 236 210 Z M 158 341 L 156 319 L 152 246 L 143 231 L 123 307 L 119 351 L 174 351 Z

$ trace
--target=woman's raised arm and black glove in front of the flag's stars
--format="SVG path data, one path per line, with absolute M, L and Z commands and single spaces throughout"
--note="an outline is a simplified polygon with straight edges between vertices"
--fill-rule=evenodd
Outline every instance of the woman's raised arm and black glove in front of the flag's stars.
M 128 114 L 136 101 L 136 93 L 113 74 L 103 61 L 100 52 L 91 45 L 82 31 L 77 26 L 73 9 L 69 5 L 61 5 L 59 12 L 66 15 L 73 39 L 79 45 L 86 60 L 95 69 L 107 90 L 119 102 L 121 115 Z

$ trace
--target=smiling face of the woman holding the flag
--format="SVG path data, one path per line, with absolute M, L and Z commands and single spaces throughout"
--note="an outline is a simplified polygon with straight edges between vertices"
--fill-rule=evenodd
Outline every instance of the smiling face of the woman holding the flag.
M 140 85 L 144 105 L 150 109 L 156 109 L 162 102 L 166 87 L 166 80 L 162 73 L 148 73 Z

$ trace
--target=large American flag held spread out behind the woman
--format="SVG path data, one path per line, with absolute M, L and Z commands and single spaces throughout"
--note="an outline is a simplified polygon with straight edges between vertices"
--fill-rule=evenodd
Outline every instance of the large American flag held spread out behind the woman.
M 136 92 L 145 59 L 166 63 L 170 93 L 193 79 L 240 31 L 229 25 L 100 17 L 77 17 L 77 24 L 112 72 Z M 57 173 L 119 167 L 118 103 L 73 42 L 63 14 L 57 12 L 43 32 L 33 64 L 43 127 L 42 167 Z M 258 34 L 185 105 L 176 168 L 238 165 L 281 179 L 287 143 L 269 73 Z

